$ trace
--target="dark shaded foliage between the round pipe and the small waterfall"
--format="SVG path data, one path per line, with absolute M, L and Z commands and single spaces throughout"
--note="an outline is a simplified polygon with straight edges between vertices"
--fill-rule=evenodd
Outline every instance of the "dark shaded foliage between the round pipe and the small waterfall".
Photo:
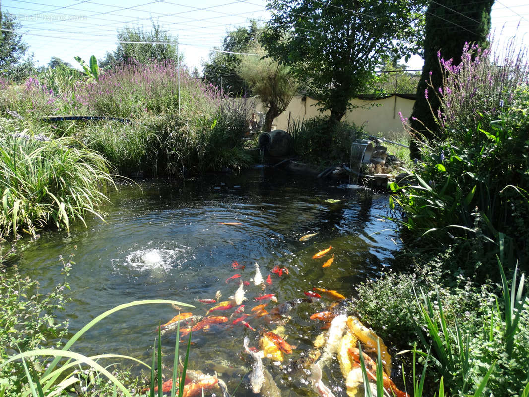
M 332 164 L 349 164 L 351 144 L 361 136 L 362 128 L 340 122 L 334 125 L 331 136 L 328 131 L 329 121 L 325 116 L 294 121 L 290 129 L 291 148 L 312 164 L 320 164 L 324 160 L 329 160 Z

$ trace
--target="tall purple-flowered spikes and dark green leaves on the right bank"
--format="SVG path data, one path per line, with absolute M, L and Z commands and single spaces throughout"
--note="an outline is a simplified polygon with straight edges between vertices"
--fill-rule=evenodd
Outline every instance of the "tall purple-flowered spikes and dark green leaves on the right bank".
M 527 263 L 529 227 L 529 71 L 525 50 L 504 55 L 467 45 L 459 65 L 440 59 L 443 87 L 425 95 L 441 102 L 439 140 L 422 148 L 411 177 L 393 184 L 393 204 L 421 241 L 457 244 L 454 267 L 487 264 L 494 272 L 499 233 L 509 263 Z M 510 265 L 509 265 L 510 266 Z M 472 269 L 473 271 L 473 269 Z

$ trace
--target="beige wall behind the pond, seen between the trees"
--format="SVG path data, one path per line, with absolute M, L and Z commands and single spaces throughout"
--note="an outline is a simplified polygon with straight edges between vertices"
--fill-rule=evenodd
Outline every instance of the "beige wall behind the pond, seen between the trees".
M 400 98 L 398 96 L 390 96 L 382 100 L 364 101 L 352 100 L 351 103 L 357 107 L 345 114 L 342 120 L 354 122 L 357 125 L 364 125 L 364 129 L 370 134 L 378 134 L 386 136 L 388 133 L 402 132 L 403 126 L 400 120 L 399 112 L 402 112 L 404 118 L 408 118 L 412 113 L 414 100 Z M 324 113 L 317 110 L 315 106 L 316 101 L 309 97 L 295 96 L 287 107 L 287 110 L 279 115 L 274 122 L 274 128 L 287 130 L 288 115 L 290 114 L 290 122 L 293 120 L 309 119 L 311 117 L 330 114 L 329 111 Z M 255 109 L 259 112 L 266 112 L 266 109 L 259 102 L 258 98 L 250 98 L 247 100 L 249 112 Z M 253 107 L 254 106 L 254 107 Z

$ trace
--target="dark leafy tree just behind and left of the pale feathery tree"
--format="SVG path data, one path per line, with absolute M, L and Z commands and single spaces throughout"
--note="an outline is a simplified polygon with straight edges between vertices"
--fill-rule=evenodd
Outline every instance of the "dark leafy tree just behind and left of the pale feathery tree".
M 238 74 L 238 68 L 243 59 L 239 54 L 231 52 L 246 52 L 252 41 L 261 37 L 262 28 L 257 21 L 250 21 L 248 28 L 237 28 L 228 32 L 224 37 L 221 51 L 209 53 L 209 60 L 204 62 L 204 78 L 223 91 L 232 95 L 249 95 L 250 87 Z

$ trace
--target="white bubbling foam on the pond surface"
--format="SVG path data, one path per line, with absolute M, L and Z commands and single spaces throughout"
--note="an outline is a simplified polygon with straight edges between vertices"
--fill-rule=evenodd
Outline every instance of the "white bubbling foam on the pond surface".
M 135 270 L 161 270 L 165 272 L 178 266 L 178 254 L 184 249 L 143 248 L 125 256 L 124 265 Z

